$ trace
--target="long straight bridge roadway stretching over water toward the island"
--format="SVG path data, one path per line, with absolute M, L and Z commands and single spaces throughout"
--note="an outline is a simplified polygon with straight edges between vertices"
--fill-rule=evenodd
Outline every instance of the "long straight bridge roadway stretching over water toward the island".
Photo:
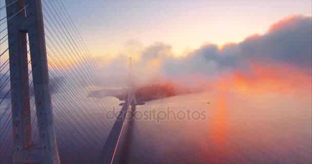
M 130 91 L 131 92 L 131 91 Z M 128 97 L 130 97 L 129 95 L 131 95 L 131 93 L 129 92 Z M 129 105 L 132 101 L 132 95 L 131 95 L 131 99 L 126 98 L 124 106 L 122 107 L 108 137 L 107 140 L 104 144 L 104 147 L 100 153 L 99 158 L 96 161 L 96 164 L 108 164 L 108 163 L 112 163 L 113 157 L 115 155 L 115 151 L 116 151 L 116 147 L 118 145 L 119 142 L 119 138 L 122 132 L 122 128 L 123 128 L 123 124 L 126 118 L 126 114 L 128 112 L 129 109 Z

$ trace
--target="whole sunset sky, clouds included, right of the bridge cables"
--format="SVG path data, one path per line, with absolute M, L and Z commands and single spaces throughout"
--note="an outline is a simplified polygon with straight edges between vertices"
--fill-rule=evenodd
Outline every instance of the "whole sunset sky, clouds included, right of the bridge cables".
M 142 84 L 310 91 L 312 1 L 62 2 L 108 87 L 126 85 L 131 56 Z

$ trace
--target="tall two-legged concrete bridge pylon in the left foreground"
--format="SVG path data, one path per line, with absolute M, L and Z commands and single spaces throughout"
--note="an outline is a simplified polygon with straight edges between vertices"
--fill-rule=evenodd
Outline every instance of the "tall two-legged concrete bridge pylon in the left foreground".
M 60 163 L 53 126 L 41 0 L 14 2 L 6 0 L 12 126 L 16 127 L 13 163 Z M 31 145 L 27 34 L 40 145 Z

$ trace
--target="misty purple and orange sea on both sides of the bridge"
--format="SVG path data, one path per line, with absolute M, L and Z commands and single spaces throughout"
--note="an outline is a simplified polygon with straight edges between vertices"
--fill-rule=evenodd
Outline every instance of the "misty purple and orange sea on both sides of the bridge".
M 52 98 L 56 97 L 52 95 Z M 103 119 L 107 109 L 86 109 L 86 106 L 81 106 L 81 110 L 68 108 L 73 116 L 71 117 L 65 111 L 65 107 L 57 108 L 53 99 L 53 114 L 56 117 L 54 126 L 61 162 L 94 162 L 114 122 Z M 91 100 L 94 105 L 98 100 L 109 100 L 120 110 L 118 104 L 121 101 L 116 98 Z M 207 104 L 208 101 L 210 104 Z M 169 119 L 160 120 L 159 124 L 153 119 L 127 121 L 113 163 L 312 161 L 310 95 L 298 97 L 280 93 L 260 95 L 213 91 L 148 101 L 146 105 L 136 106 L 136 111 L 151 110 L 150 107 L 157 111 L 166 111 L 167 107 L 173 111 L 206 111 L 206 119 Z M 1 125 L 3 124 L 4 122 L 1 122 Z M 76 129 L 73 129 L 72 125 Z M 96 128 L 89 129 L 87 125 L 96 125 Z M 36 138 L 34 143 L 38 144 Z M 5 152 L 2 157 L 7 157 L 8 152 L 11 151 Z

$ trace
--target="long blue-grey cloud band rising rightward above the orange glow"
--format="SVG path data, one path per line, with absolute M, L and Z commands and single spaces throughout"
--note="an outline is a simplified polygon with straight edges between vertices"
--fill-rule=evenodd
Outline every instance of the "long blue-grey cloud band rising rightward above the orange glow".
M 206 76 L 211 72 L 228 70 L 248 71 L 252 61 L 264 64 L 288 64 L 311 73 L 311 17 L 286 17 L 270 27 L 264 35 L 252 35 L 238 44 L 227 44 L 222 49 L 207 44 L 182 59 L 164 62 L 164 73 L 196 73 Z

